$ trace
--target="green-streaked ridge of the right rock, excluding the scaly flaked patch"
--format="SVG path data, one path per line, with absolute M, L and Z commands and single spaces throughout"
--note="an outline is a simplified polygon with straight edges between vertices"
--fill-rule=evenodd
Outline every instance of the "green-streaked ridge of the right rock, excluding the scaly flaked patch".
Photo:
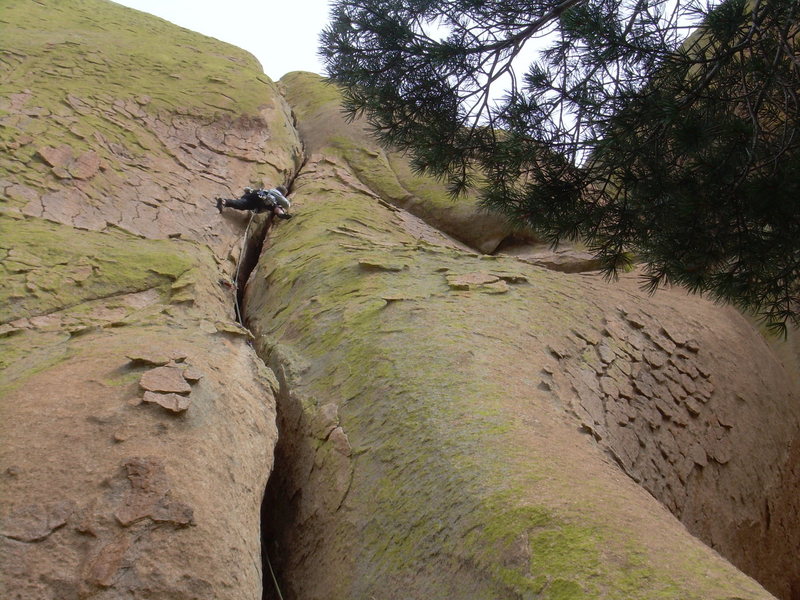
M 334 403 L 353 449 L 345 468 L 314 439 L 295 448 L 310 476 L 283 465 L 303 490 L 291 510 L 306 537 L 281 538 L 307 557 L 294 592 L 768 598 L 616 477 L 535 371 L 512 368 L 548 364 L 548 343 L 601 322 L 585 284 L 421 241 L 337 160 L 296 181 L 305 216 L 273 232 L 246 296 L 262 354 L 294 373 L 285 436 L 302 447 L 303 423 Z M 345 475 L 341 508 L 314 500 Z

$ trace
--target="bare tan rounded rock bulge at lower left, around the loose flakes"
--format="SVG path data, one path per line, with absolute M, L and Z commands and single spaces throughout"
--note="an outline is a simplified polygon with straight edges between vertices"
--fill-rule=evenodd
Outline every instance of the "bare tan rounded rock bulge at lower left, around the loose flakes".
M 243 343 L 184 333 L 213 377 L 182 416 L 139 404 L 122 355 L 178 333 L 150 329 L 88 335 L 4 392 L 4 598 L 254 597 L 271 391 Z

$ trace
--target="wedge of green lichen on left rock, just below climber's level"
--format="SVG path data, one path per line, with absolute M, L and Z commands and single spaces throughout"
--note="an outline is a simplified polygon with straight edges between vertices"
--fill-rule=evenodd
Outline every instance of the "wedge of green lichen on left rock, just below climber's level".
M 0 217 L 0 392 L 69 356 L 103 329 L 163 324 L 169 302 L 206 294 L 216 272 L 189 242 Z

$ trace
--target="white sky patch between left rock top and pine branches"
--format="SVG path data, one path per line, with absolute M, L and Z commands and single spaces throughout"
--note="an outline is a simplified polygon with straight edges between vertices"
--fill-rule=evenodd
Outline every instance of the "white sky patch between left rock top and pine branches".
M 114 0 L 244 48 L 277 81 L 290 71 L 323 74 L 319 33 L 329 0 Z

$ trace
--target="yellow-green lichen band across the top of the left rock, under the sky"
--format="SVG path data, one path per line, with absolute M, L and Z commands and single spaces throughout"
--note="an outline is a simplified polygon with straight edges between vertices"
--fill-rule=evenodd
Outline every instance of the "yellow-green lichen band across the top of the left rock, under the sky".
M 12 74 L 0 82 L 0 95 L 27 89 L 45 115 L 70 96 L 109 94 L 147 97 L 154 110 L 256 114 L 267 96 L 269 79 L 252 55 L 113 2 L 11 0 L 3 3 L 0 28 L 5 72 Z

